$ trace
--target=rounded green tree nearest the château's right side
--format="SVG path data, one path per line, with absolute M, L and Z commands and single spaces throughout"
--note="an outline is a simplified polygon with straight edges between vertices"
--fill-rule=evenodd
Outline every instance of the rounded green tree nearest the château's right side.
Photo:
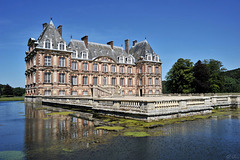
M 166 87 L 172 93 L 192 92 L 193 62 L 190 59 L 180 58 L 167 73 Z

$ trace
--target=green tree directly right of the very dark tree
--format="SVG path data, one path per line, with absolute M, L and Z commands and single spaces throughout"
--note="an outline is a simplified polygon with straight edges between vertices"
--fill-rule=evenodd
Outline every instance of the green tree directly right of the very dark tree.
M 225 69 L 223 68 L 222 62 L 210 59 L 204 60 L 204 63 L 207 65 L 210 73 L 209 77 L 210 92 L 217 93 L 223 91 L 224 78 L 222 72 Z

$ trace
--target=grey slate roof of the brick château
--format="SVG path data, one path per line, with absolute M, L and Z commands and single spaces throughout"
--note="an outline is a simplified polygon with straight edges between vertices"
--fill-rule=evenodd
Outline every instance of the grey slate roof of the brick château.
M 28 43 L 34 42 L 38 48 L 44 48 L 44 41 L 47 39 L 52 42 L 52 49 L 58 49 L 59 42 L 64 42 L 64 44 L 66 44 L 54 26 L 52 20 L 49 22 L 49 24 L 46 24 L 46 27 L 43 29 L 38 40 L 30 38 Z M 110 45 L 94 42 L 88 42 L 88 48 L 86 48 L 84 41 L 75 39 L 71 39 L 67 46 L 67 50 L 76 50 L 78 53 L 86 51 L 88 52 L 88 58 L 91 60 L 94 60 L 97 57 L 106 56 L 112 58 L 116 62 L 118 62 L 118 57 L 120 56 L 124 56 L 124 58 L 132 57 L 134 61 L 137 61 L 140 57 L 143 57 L 143 59 L 145 59 L 146 55 L 149 54 L 152 56 L 158 56 L 153 51 L 147 40 L 138 42 L 135 44 L 135 46 L 132 46 L 129 54 L 126 53 L 123 47 L 113 46 L 112 49 Z

